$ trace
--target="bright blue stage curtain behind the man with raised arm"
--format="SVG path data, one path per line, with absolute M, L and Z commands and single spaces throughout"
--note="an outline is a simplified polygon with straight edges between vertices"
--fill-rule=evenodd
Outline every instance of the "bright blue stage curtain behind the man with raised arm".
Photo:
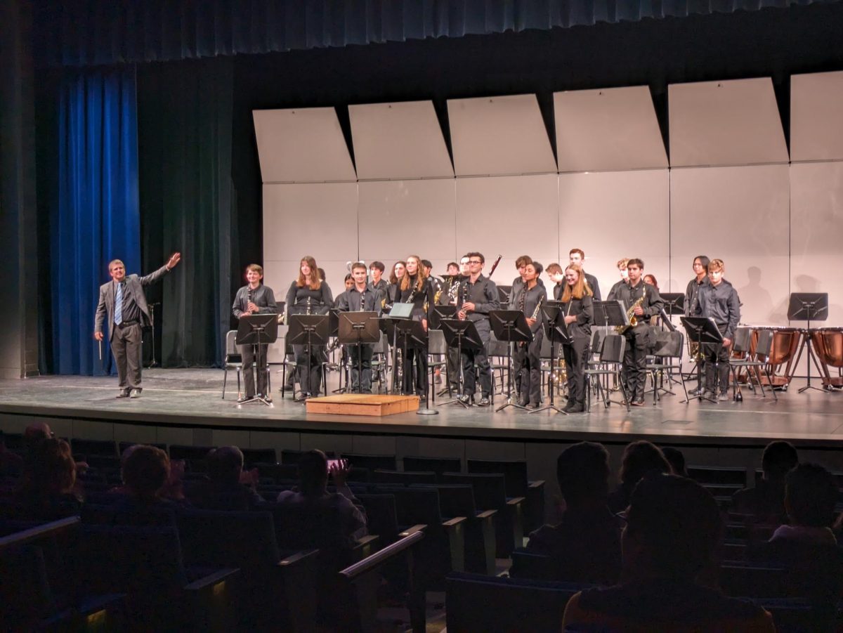
M 140 269 L 135 92 L 134 67 L 62 78 L 50 218 L 53 373 L 111 370 L 107 341 L 99 362 L 94 312 L 110 260 Z

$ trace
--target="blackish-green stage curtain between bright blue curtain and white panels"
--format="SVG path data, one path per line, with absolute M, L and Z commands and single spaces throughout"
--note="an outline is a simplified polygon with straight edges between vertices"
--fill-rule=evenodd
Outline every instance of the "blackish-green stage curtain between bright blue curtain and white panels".
M 143 270 L 182 253 L 169 279 L 148 294 L 162 303 L 156 357 L 164 367 L 209 367 L 223 358 L 229 283 L 237 279 L 233 84 L 230 57 L 138 70 Z

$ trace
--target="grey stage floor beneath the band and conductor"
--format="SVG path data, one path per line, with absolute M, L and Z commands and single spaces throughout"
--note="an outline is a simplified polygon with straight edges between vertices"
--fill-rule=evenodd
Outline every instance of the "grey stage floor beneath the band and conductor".
M 274 383 L 280 381 L 273 374 Z M 330 374 L 329 390 L 336 388 L 336 373 Z M 3 414 L 111 421 L 156 426 L 210 426 L 262 431 L 306 431 L 388 433 L 438 437 L 555 439 L 565 441 L 586 436 L 597 441 L 609 437 L 628 440 L 638 437 L 671 438 L 674 442 L 752 443 L 783 438 L 812 443 L 843 440 L 843 393 L 808 391 L 798 394 L 804 381 L 794 382 L 779 392 L 761 398 L 744 389 L 744 402 L 681 404 L 681 387 L 666 395 L 658 405 L 647 405 L 627 413 L 622 405 L 604 408 L 593 400 L 591 413 L 563 416 L 554 411 L 528 414 L 509 408 L 459 405 L 435 407 L 437 416 L 415 413 L 383 418 L 366 416 L 309 415 L 290 394 L 282 399 L 274 389 L 271 407 L 238 406 L 237 378 L 228 375 L 228 390 L 221 399 L 221 369 L 144 369 L 143 394 L 137 400 L 115 399 L 116 378 L 45 376 L 0 381 L 0 420 Z M 619 395 L 615 394 L 615 398 Z M 437 402 L 441 402 L 438 399 Z M 434 403 L 432 403 L 433 405 Z M 501 396 L 495 406 L 503 404 Z M 707 440 L 707 442 L 706 442 Z

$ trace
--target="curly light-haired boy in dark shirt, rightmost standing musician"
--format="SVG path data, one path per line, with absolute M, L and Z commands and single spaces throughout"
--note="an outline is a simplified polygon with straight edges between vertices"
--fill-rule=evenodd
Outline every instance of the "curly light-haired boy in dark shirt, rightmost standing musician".
M 740 321 L 740 299 L 738 291 L 723 279 L 726 266 L 723 260 L 708 263 L 708 286 L 700 288 L 701 316 L 714 319 L 717 330 L 723 335 L 722 345 L 706 343 L 706 398 L 717 398 L 720 402 L 729 400 L 729 348 Z

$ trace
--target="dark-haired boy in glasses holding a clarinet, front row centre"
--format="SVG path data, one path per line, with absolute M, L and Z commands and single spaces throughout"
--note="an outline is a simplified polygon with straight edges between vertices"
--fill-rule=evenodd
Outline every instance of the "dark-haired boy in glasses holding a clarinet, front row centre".
M 489 406 L 491 405 L 491 370 L 489 369 L 489 357 L 486 354 L 491 335 L 489 313 L 492 310 L 500 309 L 501 302 L 498 298 L 495 282 L 483 276 L 486 258 L 483 257 L 482 253 L 477 252 L 467 253 L 466 256 L 469 258 L 469 276 L 459 289 L 457 317 L 474 321 L 477 333 L 483 341 L 483 347 L 478 351 L 461 351 L 463 394 L 459 396 L 459 400 L 464 403 L 474 400 L 476 391 L 474 367 L 476 364 L 481 387 L 481 400 L 477 404 Z

